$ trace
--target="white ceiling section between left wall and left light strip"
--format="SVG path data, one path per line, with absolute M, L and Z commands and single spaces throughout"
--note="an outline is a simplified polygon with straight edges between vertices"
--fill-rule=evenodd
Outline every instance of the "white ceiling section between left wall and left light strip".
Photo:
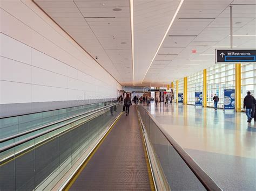
M 97 56 L 96 60 L 116 80 L 132 83 L 129 0 L 36 0 L 36 3 L 86 52 L 93 58 Z M 128 72 L 122 72 L 119 65 Z

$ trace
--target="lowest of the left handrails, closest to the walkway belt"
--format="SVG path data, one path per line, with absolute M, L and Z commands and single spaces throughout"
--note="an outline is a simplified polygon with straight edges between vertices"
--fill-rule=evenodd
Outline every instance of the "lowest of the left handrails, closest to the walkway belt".
M 111 108 L 111 107 L 113 107 L 114 105 L 117 105 L 117 104 L 119 104 L 119 103 L 114 103 L 114 104 L 111 104 L 111 105 L 107 105 L 107 106 L 105 106 L 105 107 L 102 107 L 102 108 L 100 108 L 100 109 L 95 109 L 95 110 L 92 110 L 92 111 L 90 111 L 90 112 L 85 112 L 85 113 L 89 113 L 89 114 L 87 114 L 87 115 L 85 115 L 85 114 L 79 114 L 78 116 L 81 116 L 81 115 L 85 115 L 85 116 L 79 117 L 79 118 L 77 118 L 77 119 L 75 119 L 75 120 L 72 120 L 72 121 L 70 121 L 70 122 L 64 123 L 64 124 L 62 124 L 62 125 L 59 125 L 59 126 L 57 126 L 56 128 L 52 128 L 52 129 L 46 130 L 46 131 L 44 131 L 44 132 L 38 133 L 37 135 L 33 135 L 33 136 L 31 136 L 31 137 L 28 137 L 28 138 L 19 140 L 18 142 L 12 143 L 12 144 L 10 144 L 10 145 L 6 145 L 6 146 L 0 148 L 0 153 L 1 153 L 1 152 L 4 152 L 4 151 L 7 151 L 7 150 L 9 150 L 10 148 L 13 148 L 13 147 L 15 147 L 15 146 L 21 145 L 21 144 L 23 144 L 23 143 L 25 143 L 25 142 L 29 142 L 30 140 L 35 139 L 35 138 L 37 138 L 37 137 L 46 135 L 46 134 L 49 133 L 49 132 L 52 132 L 52 131 L 55 131 L 55 130 L 57 130 L 57 129 L 63 128 L 63 126 L 69 125 L 69 124 L 71 124 L 71 123 L 74 123 L 74 122 L 76 122 L 76 121 L 82 119 L 82 118 L 85 118 L 85 117 L 91 116 L 91 115 L 93 115 L 93 114 L 96 114 L 96 113 L 99 112 L 99 111 L 103 111 L 103 110 L 105 110 L 105 109 L 107 109 L 107 108 Z M 76 116 L 76 117 L 77 117 L 77 116 Z M 70 117 L 70 119 L 71 119 L 71 118 L 74 118 L 74 116 Z M 66 120 L 68 120 L 68 119 L 66 118 L 65 121 L 66 121 Z M 58 121 L 58 123 L 59 123 L 59 121 Z M 52 125 L 52 124 L 44 125 L 44 128 L 46 128 L 46 127 L 48 127 L 48 126 L 51 126 L 51 125 Z M 42 128 L 41 128 L 41 129 L 42 129 Z M 35 131 L 36 131 L 36 130 L 35 130 Z

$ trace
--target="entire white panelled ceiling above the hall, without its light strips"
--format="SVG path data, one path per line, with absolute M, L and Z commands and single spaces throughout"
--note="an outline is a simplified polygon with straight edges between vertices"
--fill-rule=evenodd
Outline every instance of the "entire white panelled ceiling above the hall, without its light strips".
M 36 2 L 120 83 L 133 84 L 129 0 Z M 170 83 L 214 65 L 215 48 L 230 46 L 231 4 L 233 34 L 242 35 L 234 47 L 256 48 L 256 0 L 185 0 L 157 52 L 179 2 L 133 1 L 136 85 Z

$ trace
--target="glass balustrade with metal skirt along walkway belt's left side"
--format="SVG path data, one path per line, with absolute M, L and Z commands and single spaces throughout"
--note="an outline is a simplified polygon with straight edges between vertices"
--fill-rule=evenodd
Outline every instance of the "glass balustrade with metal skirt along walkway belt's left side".
M 0 190 L 51 188 L 96 143 L 120 111 L 116 107 L 111 115 L 107 108 L 89 121 L 89 116 L 84 117 L 1 152 L 0 173 L 4 176 L 0 179 Z

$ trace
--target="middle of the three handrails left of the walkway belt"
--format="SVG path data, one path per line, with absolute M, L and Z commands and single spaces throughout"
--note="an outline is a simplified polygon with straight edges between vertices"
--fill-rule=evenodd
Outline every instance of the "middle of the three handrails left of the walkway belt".
M 114 103 L 114 104 L 111 104 L 111 105 L 113 106 L 113 105 L 116 105 L 116 104 Z M 38 128 L 34 128 L 34 129 L 31 129 L 31 130 L 28 130 L 28 131 L 17 133 L 16 135 L 12 135 L 10 137 L 5 137 L 3 139 L 0 139 L 0 143 L 6 142 L 6 141 L 11 140 L 11 139 L 15 139 L 17 137 L 21 137 L 23 135 L 27 135 L 28 133 L 32 133 L 32 132 L 35 132 L 35 131 L 38 131 L 38 130 L 41 130 L 41 129 L 44 129 L 44 128 L 48 128 L 48 126 L 55 125 L 55 124 L 58 124 L 58 123 L 62 123 L 64 121 L 67 121 L 67 120 L 75 118 L 75 117 L 79 117 L 79 116 L 82 116 L 82 115 L 85 115 L 85 114 L 89 114 L 90 112 L 94 112 L 94 111 L 97 111 L 97 110 L 100 110 L 100 109 L 107 108 L 109 106 L 110 105 L 107 105 L 107 106 L 104 106 L 104 107 L 101 107 L 101 108 L 97 108 L 97 109 L 94 109 L 94 110 L 86 111 L 86 112 L 83 112 L 81 114 L 73 115 L 73 116 L 66 117 L 66 118 L 60 119 L 58 121 L 52 122 L 52 123 L 48 123 L 48 124 L 39 126 Z

